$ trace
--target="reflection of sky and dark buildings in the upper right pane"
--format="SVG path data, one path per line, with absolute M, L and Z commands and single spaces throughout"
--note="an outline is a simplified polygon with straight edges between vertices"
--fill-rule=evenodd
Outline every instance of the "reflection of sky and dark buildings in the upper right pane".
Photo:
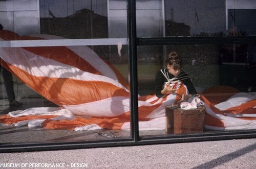
M 252 1 L 166 1 L 166 36 L 256 35 Z

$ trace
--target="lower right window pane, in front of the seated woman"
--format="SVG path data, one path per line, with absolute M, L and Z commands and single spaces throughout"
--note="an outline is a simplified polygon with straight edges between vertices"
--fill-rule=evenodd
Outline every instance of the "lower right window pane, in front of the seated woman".
M 226 51 L 227 46 L 231 46 L 230 49 L 228 48 L 228 51 Z M 223 48 L 225 48 L 225 50 Z M 158 50 L 147 52 L 153 49 Z M 170 121 L 172 124 L 168 124 L 168 122 L 165 121 L 165 117 L 167 118 L 167 114 L 165 114 L 167 111 L 166 106 L 172 108 L 173 106 L 178 106 L 178 108 L 181 109 L 181 103 L 178 101 L 184 100 L 186 94 L 190 93 L 194 96 L 196 94 L 193 93 L 190 84 L 185 80 L 186 76 L 182 76 L 184 72 L 182 73 L 182 71 L 180 71 L 181 73 L 176 75 L 176 77 L 166 74 L 170 72 L 170 70 L 165 63 L 167 57 L 163 52 L 165 49 L 167 55 L 175 51 L 181 56 L 181 69 L 184 70 L 186 76 L 188 75 L 189 80 L 191 80 L 199 94 L 199 99 L 202 101 L 201 104 L 207 109 L 205 118 L 202 118 L 202 116 L 198 114 L 200 118 L 198 118 L 198 120 L 205 120 L 204 128 L 198 129 L 198 131 L 196 131 L 196 129 L 193 130 L 193 126 L 190 126 L 191 131 L 186 128 L 186 125 L 194 118 L 193 116 L 189 118 L 189 114 L 186 116 L 181 113 L 179 116 L 178 112 L 175 112 L 177 114 L 173 112 L 176 117 L 173 117 L 174 119 Z M 239 120 L 241 119 L 237 119 L 238 117 L 234 114 L 243 116 L 244 113 L 255 113 L 253 100 L 255 99 L 256 91 L 256 78 L 254 76 L 256 69 L 255 60 L 252 59 L 255 50 L 255 44 L 167 45 L 162 47 L 139 46 L 138 89 L 141 97 L 139 98 L 138 104 L 140 135 L 166 134 L 168 125 L 177 125 L 175 127 L 172 126 L 172 129 L 177 129 L 179 126 L 179 130 L 181 131 L 174 132 L 172 130 L 171 133 L 167 134 L 223 131 L 225 127 L 230 130 L 248 129 L 247 127 L 250 126 L 250 120 L 253 119 L 253 115 L 246 119 L 248 120 L 246 122 L 247 127 L 244 127 L 239 125 Z M 236 54 L 236 62 L 233 61 L 233 53 Z M 143 59 L 141 59 L 141 56 Z M 239 56 L 239 60 L 237 56 Z M 226 58 L 226 60 L 230 58 L 230 61 L 224 62 L 224 58 Z M 159 71 L 160 69 L 162 69 L 163 73 Z M 164 77 L 164 73 L 166 77 Z M 173 72 L 171 72 L 171 74 L 172 73 Z M 172 79 L 174 77 L 176 79 L 178 78 L 177 81 L 176 79 Z M 174 93 L 170 92 L 172 94 L 166 93 L 157 96 L 158 85 L 160 85 L 160 90 L 162 90 L 162 86 L 165 85 L 164 83 L 159 84 L 158 82 L 160 82 L 161 79 L 167 82 L 165 78 L 173 80 L 171 86 L 176 90 Z M 183 84 L 186 85 L 188 93 L 183 92 Z M 143 103 L 145 100 L 147 104 Z M 191 104 L 191 101 L 187 101 L 187 103 Z M 241 106 L 242 104 L 246 104 L 247 107 L 245 108 L 245 105 Z M 196 106 L 196 108 L 198 107 L 199 105 Z M 180 112 L 186 113 L 186 111 L 193 111 L 193 109 L 181 109 Z M 215 118 L 214 114 L 217 116 L 221 114 L 220 118 Z M 230 122 L 222 115 L 229 116 L 230 122 L 234 125 L 229 124 Z M 226 123 L 227 126 L 223 126 L 223 122 Z M 195 124 L 191 123 L 190 125 L 198 125 L 198 123 L 194 123 Z M 253 128 L 253 126 L 250 127 Z M 198 128 L 198 126 L 196 128 Z

